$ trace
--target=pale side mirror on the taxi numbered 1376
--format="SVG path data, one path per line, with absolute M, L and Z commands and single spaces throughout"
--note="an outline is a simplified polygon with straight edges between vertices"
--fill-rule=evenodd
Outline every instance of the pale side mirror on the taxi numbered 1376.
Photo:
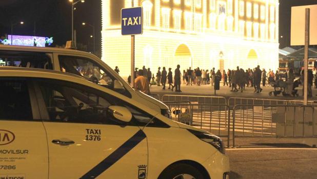
M 132 119 L 132 113 L 126 107 L 122 106 L 109 106 L 107 116 L 118 123 L 129 123 Z

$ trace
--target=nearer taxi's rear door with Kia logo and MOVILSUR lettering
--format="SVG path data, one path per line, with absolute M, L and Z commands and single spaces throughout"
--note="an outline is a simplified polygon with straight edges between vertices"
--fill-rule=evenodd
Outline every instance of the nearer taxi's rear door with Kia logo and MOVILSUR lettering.
M 46 133 L 25 79 L 0 79 L 0 178 L 48 178 Z

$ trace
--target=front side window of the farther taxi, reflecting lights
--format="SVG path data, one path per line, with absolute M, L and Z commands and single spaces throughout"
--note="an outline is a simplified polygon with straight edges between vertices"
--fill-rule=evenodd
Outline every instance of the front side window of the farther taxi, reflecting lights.
M 113 89 L 114 77 L 89 58 L 58 55 L 61 71 L 85 77 L 89 81 Z

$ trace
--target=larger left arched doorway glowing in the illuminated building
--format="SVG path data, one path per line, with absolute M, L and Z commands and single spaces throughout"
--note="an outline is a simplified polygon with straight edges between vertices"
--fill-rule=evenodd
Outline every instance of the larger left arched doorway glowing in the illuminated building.
M 172 69 L 176 68 L 177 65 L 181 65 L 182 70 L 192 67 L 192 56 L 189 48 L 185 44 L 181 44 L 175 50 Z

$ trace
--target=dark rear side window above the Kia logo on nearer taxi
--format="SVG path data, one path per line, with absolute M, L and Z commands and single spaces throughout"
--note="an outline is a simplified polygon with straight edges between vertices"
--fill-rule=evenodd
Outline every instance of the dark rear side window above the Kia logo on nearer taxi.
M 0 79 L 0 120 L 32 120 L 26 81 Z

